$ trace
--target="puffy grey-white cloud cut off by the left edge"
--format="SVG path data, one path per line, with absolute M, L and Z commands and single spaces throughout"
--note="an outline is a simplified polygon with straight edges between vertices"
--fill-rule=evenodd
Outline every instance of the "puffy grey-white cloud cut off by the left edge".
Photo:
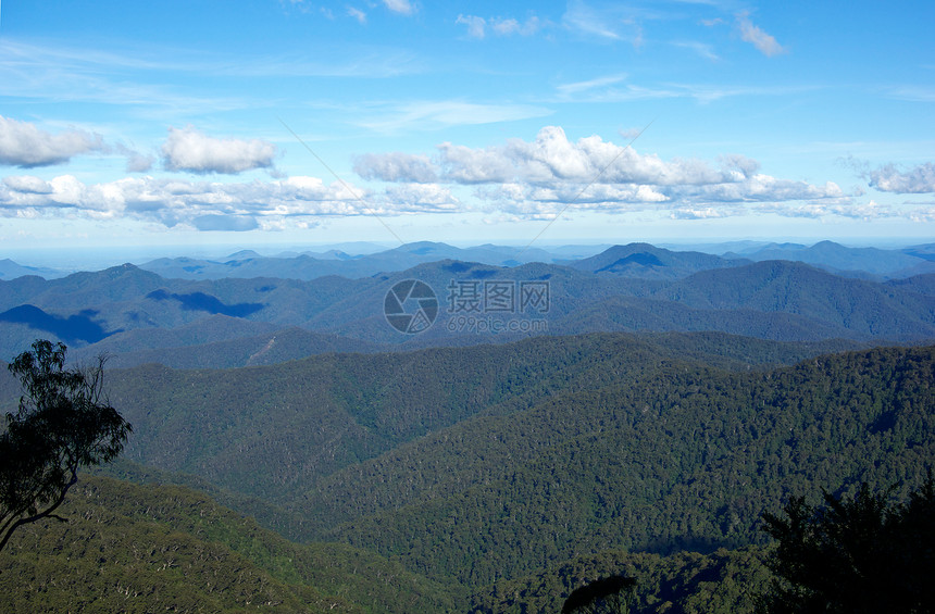
M 0 115 L 0 164 L 30 168 L 67 162 L 73 155 L 104 151 L 99 135 L 84 130 L 51 134 L 29 122 Z

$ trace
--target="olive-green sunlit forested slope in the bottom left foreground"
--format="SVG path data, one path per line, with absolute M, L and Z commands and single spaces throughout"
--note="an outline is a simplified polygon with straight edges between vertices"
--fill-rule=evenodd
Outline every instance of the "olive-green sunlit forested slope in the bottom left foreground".
M 374 554 L 297 546 L 203 494 L 88 477 L 0 553 L 3 612 L 444 612 L 449 591 Z

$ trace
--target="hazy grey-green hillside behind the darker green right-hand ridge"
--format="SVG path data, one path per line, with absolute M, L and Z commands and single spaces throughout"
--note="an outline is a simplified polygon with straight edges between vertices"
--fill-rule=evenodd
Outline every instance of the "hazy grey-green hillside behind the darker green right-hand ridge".
M 683 356 L 747 368 L 823 347 L 723 335 L 536 338 L 230 371 L 146 365 L 114 371 L 110 394 L 136 430 L 129 460 L 283 502 L 335 471 L 481 413 L 628 384 Z

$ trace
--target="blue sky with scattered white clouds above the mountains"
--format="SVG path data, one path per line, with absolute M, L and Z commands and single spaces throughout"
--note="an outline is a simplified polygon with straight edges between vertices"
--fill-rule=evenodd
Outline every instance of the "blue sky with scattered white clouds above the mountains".
M 931 2 L 8 1 L 0 245 L 931 242 L 933 24 Z

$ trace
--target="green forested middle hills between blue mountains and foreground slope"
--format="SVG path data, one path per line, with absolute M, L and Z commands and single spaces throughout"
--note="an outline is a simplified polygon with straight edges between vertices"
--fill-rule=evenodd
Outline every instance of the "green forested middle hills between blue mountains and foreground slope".
M 763 543 L 760 515 L 789 494 L 908 488 L 924 475 L 935 348 L 827 349 L 715 334 L 539 337 L 114 369 L 109 398 L 135 427 L 126 460 L 194 474 L 187 484 L 229 493 L 291 539 L 374 552 L 440 587 L 454 611 L 557 610 L 554 587 L 584 579 L 556 579 L 563 565 L 636 565 L 656 578 L 646 611 L 657 611 L 653 591 L 687 603 L 698 593 L 677 582 L 753 573 L 758 554 L 676 553 Z M 9 376 L 0 391 L 12 403 Z M 541 582 L 551 588 L 532 589 Z M 726 592 L 721 611 L 746 607 L 749 596 Z

